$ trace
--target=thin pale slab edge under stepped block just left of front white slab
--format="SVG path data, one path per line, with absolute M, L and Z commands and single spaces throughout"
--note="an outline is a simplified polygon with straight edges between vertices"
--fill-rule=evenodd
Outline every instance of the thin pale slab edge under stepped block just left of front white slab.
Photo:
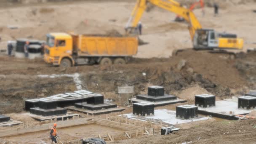
M 110 108 L 110 109 L 101 109 L 101 110 L 89 110 L 89 109 L 82 109 L 82 108 L 77 108 L 75 106 L 70 106 L 70 107 L 65 107 L 68 110 L 74 110 L 77 112 L 83 112 L 85 114 L 89 114 L 89 115 L 101 115 L 101 114 L 108 114 L 111 112 L 121 112 L 123 110 L 125 110 L 125 108 Z

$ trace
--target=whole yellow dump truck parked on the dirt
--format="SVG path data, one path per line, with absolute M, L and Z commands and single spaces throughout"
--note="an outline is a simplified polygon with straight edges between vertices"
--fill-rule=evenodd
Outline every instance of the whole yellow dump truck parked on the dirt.
M 137 51 L 137 37 L 49 33 L 44 60 L 61 67 L 80 64 L 125 64 Z

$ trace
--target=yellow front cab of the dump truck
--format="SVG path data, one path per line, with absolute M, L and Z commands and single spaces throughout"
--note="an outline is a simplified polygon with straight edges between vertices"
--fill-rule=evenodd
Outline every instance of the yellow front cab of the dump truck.
M 49 33 L 46 35 L 47 45 L 44 59 L 47 63 L 59 65 L 61 60 L 74 64 L 72 59 L 73 41 L 72 36 L 66 33 Z

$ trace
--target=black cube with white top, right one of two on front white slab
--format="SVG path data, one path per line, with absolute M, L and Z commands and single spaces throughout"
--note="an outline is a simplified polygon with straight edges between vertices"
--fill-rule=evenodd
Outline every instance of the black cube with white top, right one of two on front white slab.
M 197 107 L 193 105 L 176 106 L 176 117 L 190 119 L 197 117 Z

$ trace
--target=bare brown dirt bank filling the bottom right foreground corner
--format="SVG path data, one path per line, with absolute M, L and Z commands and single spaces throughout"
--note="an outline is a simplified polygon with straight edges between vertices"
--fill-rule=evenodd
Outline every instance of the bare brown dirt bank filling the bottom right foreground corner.
M 115 144 L 255 144 L 256 120 L 208 122 L 166 136 L 115 141 Z

